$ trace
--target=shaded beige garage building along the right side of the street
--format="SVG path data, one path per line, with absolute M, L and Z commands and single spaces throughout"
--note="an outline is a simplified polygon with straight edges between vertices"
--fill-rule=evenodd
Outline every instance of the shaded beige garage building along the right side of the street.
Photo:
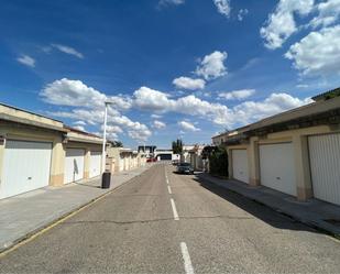
M 340 89 L 226 133 L 229 176 L 340 205 Z M 220 135 L 212 140 L 220 139 Z

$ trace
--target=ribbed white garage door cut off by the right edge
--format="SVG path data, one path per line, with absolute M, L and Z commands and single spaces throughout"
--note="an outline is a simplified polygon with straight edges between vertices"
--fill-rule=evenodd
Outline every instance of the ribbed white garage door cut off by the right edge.
M 314 196 L 340 205 L 340 134 L 308 138 Z

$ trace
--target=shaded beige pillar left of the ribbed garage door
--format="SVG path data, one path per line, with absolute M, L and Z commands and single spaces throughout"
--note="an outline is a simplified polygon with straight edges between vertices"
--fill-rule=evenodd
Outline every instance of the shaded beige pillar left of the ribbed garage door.
M 293 135 L 293 145 L 297 199 L 305 201 L 312 197 L 307 136 Z

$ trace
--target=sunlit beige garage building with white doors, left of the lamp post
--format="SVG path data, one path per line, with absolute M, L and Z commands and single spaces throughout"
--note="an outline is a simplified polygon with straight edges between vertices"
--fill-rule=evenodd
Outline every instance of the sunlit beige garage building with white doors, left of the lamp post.
M 0 105 L 0 199 L 100 175 L 102 140 Z

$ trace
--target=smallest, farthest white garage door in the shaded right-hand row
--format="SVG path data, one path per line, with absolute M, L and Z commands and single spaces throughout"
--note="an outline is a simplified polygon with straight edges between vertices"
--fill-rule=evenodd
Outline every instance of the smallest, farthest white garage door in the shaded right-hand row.
M 246 150 L 232 150 L 231 155 L 233 177 L 249 184 Z

